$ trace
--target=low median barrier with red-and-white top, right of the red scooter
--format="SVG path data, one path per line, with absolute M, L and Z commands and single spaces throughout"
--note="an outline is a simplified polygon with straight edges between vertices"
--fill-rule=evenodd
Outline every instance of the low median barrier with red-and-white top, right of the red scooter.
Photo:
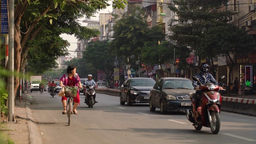
M 256 116 L 256 100 L 222 97 L 222 111 Z

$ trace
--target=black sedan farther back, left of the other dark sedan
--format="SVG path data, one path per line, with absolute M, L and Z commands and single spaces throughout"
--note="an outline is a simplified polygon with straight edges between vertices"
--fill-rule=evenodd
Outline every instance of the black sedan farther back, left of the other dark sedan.
M 152 78 L 128 78 L 120 88 L 120 104 L 149 103 L 150 90 L 155 84 Z

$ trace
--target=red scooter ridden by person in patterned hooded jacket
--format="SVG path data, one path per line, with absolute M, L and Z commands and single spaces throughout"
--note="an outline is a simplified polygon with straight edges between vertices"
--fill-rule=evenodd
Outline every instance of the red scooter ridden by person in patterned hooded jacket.
M 190 94 L 190 100 L 192 102 L 192 110 L 186 110 L 186 116 L 196 130 L 201 130 L 202 126 L 210 127 L 213 134 L 218 134 L 220 130 L 220 106 L 222 102 L 222 97 L 220 95 L 219 86 L 207 83 L 201 85 L 197 77 L 192 77 L 194 81 L 197 81 L 200 85 L 200 91 L 202 93 L 202 100 L 197 108 L 200 114 L 201 120 L 196 118 L 196 92 Z M 220 81 L 223 80 L 225 76 L 220 77 Z

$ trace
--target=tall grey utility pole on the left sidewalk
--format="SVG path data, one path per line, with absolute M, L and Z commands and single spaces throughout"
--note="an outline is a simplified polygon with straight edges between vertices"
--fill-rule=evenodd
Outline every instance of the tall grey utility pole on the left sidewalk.
M 7 122 L 15 122 L 14 119 L 14 0 L 9 0 L 9 56 L 8 70 L 8 118 Z

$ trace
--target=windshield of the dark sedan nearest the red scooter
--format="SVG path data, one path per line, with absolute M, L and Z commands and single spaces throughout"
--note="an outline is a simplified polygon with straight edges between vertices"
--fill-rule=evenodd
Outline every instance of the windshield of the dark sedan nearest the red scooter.
M 190 89 L 193 90 L 194 87 L 190 80 L 166 80 L 164 82 L 165 89 Z

